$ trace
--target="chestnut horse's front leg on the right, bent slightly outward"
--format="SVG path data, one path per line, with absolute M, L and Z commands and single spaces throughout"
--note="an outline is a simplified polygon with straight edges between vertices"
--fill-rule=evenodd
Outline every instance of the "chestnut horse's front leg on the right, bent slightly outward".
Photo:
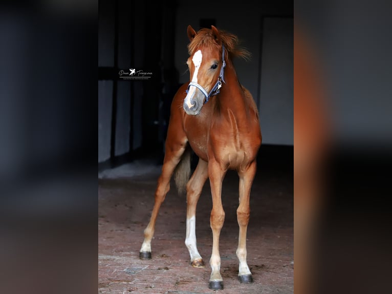
M 252 273 L 246 261 L 246 233 L 249 223 L 249 197 L 254 175 L 256 173 L 256 161 L 248 165 L 244 171 L 239 171 L 239 205 L 237 208 L 237 221 L 239 226 L 238 248 L 235 251 L 238 261 L 238 280 L 241 283 L 252 283 Z

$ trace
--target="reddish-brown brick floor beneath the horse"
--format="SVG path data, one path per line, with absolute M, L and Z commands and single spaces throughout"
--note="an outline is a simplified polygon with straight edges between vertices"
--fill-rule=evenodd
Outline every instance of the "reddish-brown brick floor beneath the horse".
M 260 167 L 262 166 L 262 167 Z M 290 165 L 289 165 L 290 166 Z M 186 197 L 175 185 L 161 206 L 153 259 L 140 260 L 143 230 L 154 204 L 160 166 L 146 173 L 98 180 L 98 292 L 99 293 L 211 293 L 209 258 L 212 233 L 209 226 L 211 197 L 206 182 L 197 208 L 198 249 L 206 267 L 189 264 L 185 247 Z M 221 233 L 221 293 L 293 293 L 293 174 L 273 164 L 259 163 L 251 192 L 248 226 L 248 265 L 253 284 L 237 280 L 238 242 L 236 208 L 238 177 L 230 171 L 223 183 L 226 213 Z

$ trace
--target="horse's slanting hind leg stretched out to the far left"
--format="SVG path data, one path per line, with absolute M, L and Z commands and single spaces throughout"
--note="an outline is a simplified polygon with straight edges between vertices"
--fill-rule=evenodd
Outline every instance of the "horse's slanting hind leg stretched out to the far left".
M 144 241 L 139 251 L 140 259 L 151 259 L 151 240 L 155 232 L 155 223 L 159 208 L 165 200 L 167 192 L 170 190 L 170 178 L 175 170 L 177 164 L 180 162 L 181 156 L 185 151 L 186 144 L 181 144 L 178 148 L 166 148 L 166 154 L 163 161 L 162 173 L 158 179 L 158 185 L 155 191 L 155 202 L 153 212 L 151 213 L 150 221 L 144 229 Z

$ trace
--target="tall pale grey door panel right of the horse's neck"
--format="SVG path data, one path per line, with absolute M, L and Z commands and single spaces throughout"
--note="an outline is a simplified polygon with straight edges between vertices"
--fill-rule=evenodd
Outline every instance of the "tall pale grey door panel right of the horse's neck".
M 259 97 L 263 143 L 294 143 L 293 18 L 264 19 Z

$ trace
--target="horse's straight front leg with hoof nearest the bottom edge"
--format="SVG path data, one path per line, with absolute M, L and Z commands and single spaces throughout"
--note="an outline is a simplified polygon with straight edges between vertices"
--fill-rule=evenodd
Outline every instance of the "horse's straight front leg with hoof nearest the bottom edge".
M 210 216 L 210 226 L 212 229 L 212 254 L 210 258 L 211 276 L 208 287 L 214 290 L 223 289 L 223 279 L 221 276 L 221 256 L 219 253 L 219 237 L 225 221 L 225 211 L 222 206 L 222 182 L 226 174 L 219 163 L 210 160 L 208 162 L 208 176 L 210 178 L 212 210 Z

